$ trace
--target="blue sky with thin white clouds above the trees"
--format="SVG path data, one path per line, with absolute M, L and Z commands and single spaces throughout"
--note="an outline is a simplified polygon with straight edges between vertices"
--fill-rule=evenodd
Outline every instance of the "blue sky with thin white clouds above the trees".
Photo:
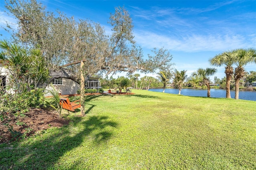
M 111 32 L 108 24 L 115 7 L 128 10 L 134 24 L 134 40 L 142 47 L 144 57 L 154 47 L 164 47 L 172 54 L 174 68 L 187 70 L 188 77 L 198 68 L 212 67 L 209 59 L 237 48 L 256 48 L 256 0 L 40 0 L 48 11 L 56 9 L 76 20 L 90 19 Z M 16 20 L 5 12 L 0 0 L 0 24 Z M 0 28 L 0 39 L 10 35 Z M 225 76 L 224 66 L 215 67 L 214 76 Z M 256 65 L 245 67 L 256 71 Z M 125 74 L 117 74 L 116 76 Z M 140 73 L 141 77 L 144 74 Z M 156 77 L 156 73 L 148 73 Z M 213 81 L 214 76 L 210 77 Z

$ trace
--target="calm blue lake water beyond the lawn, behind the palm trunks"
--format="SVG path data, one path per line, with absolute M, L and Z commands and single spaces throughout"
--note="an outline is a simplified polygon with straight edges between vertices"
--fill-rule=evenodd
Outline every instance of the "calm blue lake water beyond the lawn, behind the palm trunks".
M 162 92 L 164 89 L 149 89 L 149 91 Z M 211 97 L 225 98 L 226 89 L 211 89 Z M 178 94 L 179 89 L 165 89 L 165 93 Z M 207 89 L 182 89 L 181 95 L 207 97 Z M 230 90 L 231 98 L 234 99 L 235 91 Z M 256 101 L 256 91 L 239 91 L 239 99 Z

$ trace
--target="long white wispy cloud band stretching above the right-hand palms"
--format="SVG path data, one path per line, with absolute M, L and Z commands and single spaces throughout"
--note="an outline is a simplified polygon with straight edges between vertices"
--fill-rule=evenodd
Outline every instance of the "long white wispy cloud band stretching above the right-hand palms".
M 166 36 L 152 32 L 136 32 L 136 42 L 142 47 L 166 47 L 173 51 L 225 51 L 234 48 L 250 47 L 255 44 L 255 38 L 247 40 L 241 35 L 200 35 Z

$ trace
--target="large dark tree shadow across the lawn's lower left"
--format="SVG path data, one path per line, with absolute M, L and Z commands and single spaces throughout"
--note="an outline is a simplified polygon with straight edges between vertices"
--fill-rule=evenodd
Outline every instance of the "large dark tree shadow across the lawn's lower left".
M 94 107 L 92 105 L 92 107 Z M 54 168 L 66 152 L 80 146 L 84 140 L 102 144 L 113 135 L 118 123 L 107 116 L 74 117 L 70 125 L 42 131 L 33 140 L 17 147 L 0 149 L 0 169 L 49 169 Z M 74 162 L 75 164 L 75 162 Z

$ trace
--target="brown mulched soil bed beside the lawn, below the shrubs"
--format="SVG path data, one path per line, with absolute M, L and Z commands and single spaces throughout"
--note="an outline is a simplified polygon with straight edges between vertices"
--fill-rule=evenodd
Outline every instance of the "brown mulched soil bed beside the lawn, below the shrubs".
M 55 113 L 55 111 L 32 109 L 25 115 L 26 117 L 15 117 L 10 114 L 5 121 L 0 122 L 0 144 L 12 140 L 12 134 L 10 130 L 8 130 L 8 126 L 4 125 L 6 123 L 13 127 L 13 131 L 15 130 L 21 134 L 26 133 L 26 136 L 50 127 L 62 127 L 63 125 L 68 125 L 68 120 L 63 118 L 59 120 L 58 114 Z M 18 121 L 22 124 L 24 123 L 24 125 L 17 125 L 16 123 Z

